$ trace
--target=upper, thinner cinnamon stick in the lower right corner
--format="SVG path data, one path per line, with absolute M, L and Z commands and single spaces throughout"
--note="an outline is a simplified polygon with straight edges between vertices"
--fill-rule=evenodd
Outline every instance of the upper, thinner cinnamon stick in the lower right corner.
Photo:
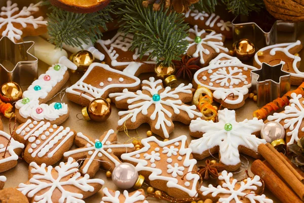
M 270 144 L 269 144 L 270 145 Z M 293 191 L 304 200 L 304 185 L 288 166 L 281 160 L 281 155 L 278 157 L 274 151 L 272 151 L 268 146 L 260 144 L 257 148 L 258 153 L 260 153 L 280 174 L 280 176 L 287 182 L 287 184 L 293 189 Z M 289 164 L 290 165 L 290 164 Z

